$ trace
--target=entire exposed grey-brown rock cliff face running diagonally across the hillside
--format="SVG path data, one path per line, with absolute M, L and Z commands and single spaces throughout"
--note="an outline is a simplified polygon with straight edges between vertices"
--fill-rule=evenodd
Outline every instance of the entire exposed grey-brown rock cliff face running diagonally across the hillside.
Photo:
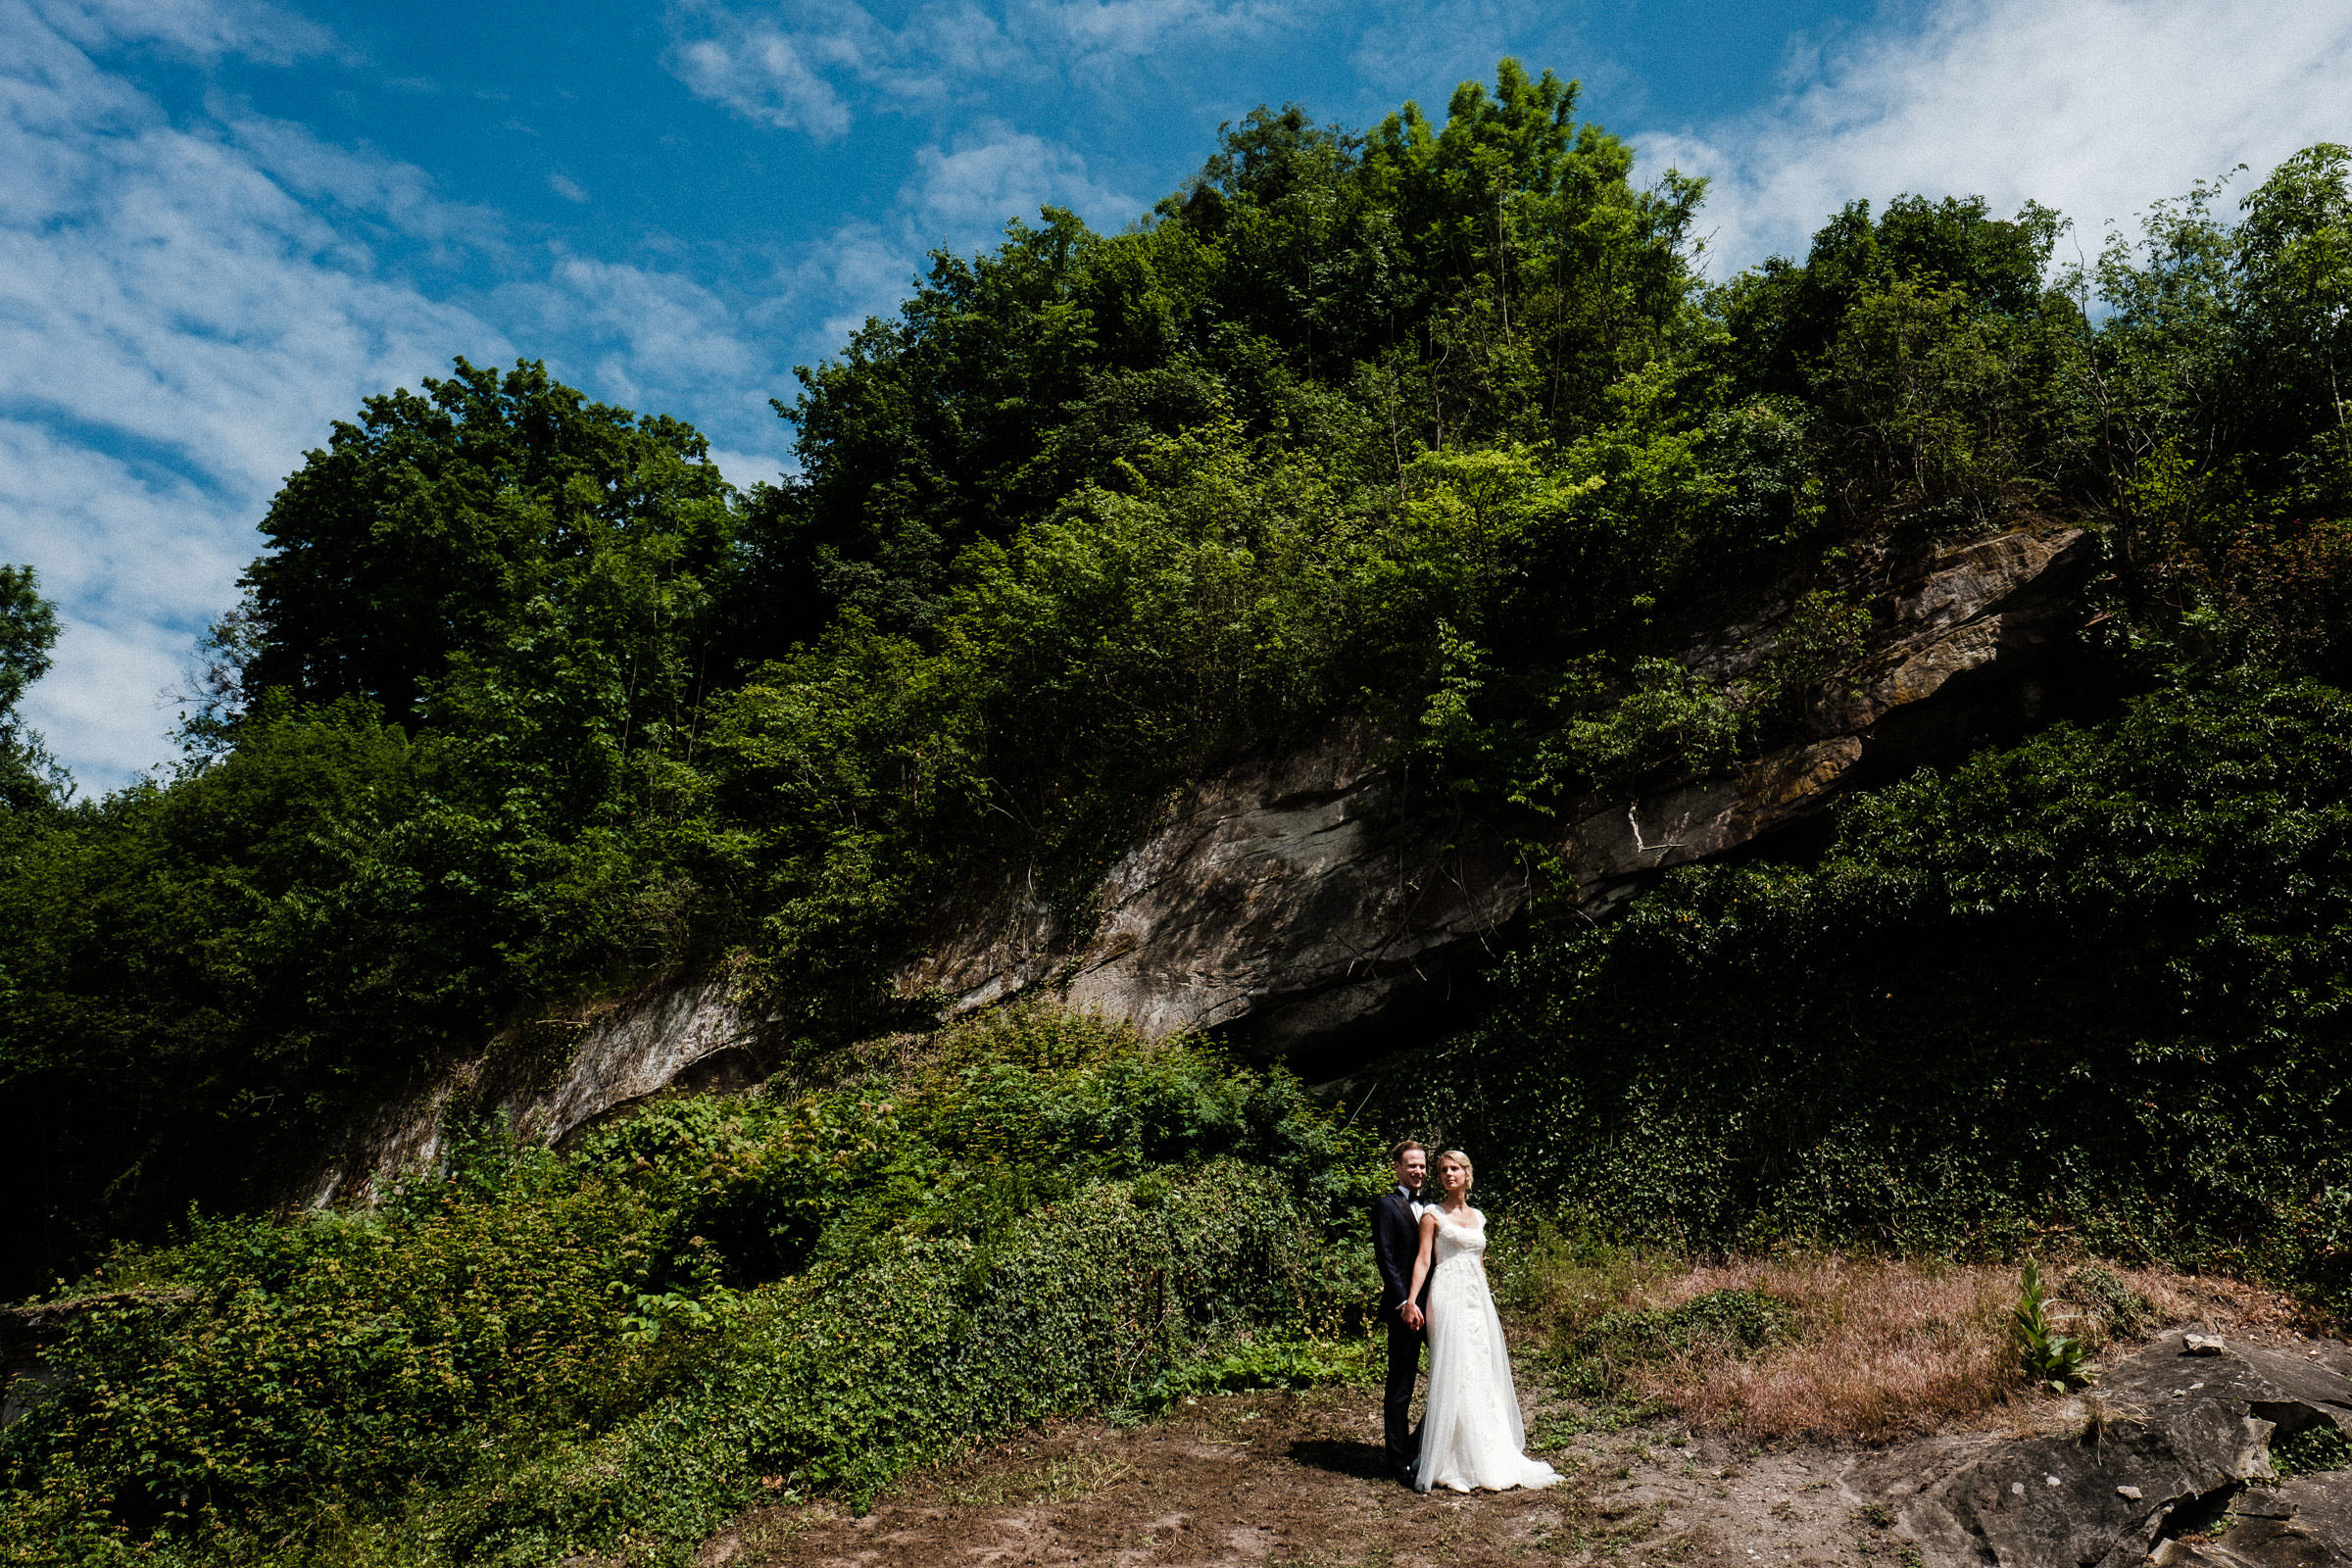
M 1016 994 L 1129 1018 L 1152 1034 L 1225 1030 L 1268 1053 L 1319 1053 L 1397 1006 L 1444 997 L 1534 891 L 1529 839 L 1557 853 L 1590 914 L 1663 867 L 1738 849 L 1818 813 L 1842 790 L 2030 717 L 2039 670 L 2074 623 L 2091 541 L 2027 527 L 1889 567 L 1872 656 L 1813 696 L 1804 738 L 1731 778 L 1590 802 L 1573 823 L 1432 816 L 1343 719 L 1294 750 L 1197 785 L 1103 877 L 1084 926 L 1028 884 L 969 905 L 896 976 L 943 1016 Z M 1736 682 L 1773 654 L 1773 618 L 1686 654 Z M 1545 842 L 1548 839 L 1548 842 Z M 310 1204 L 367 1197 L 442 1154 L 452 1103 L 499 1107 L 557 1143 L 673 1084 L 750 1081 L 762 1020 L 724 983 L 654 994 L 590 1027 L 550 1070 L 494 1046 L 393 1105 L 308 1182 Z

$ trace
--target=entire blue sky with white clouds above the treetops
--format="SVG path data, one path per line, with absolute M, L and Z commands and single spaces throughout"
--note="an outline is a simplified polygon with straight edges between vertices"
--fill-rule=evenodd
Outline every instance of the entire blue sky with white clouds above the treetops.
M 1117 228 L 1256 103 L 1437 113 L 1503 54 L 1715 181 L 1715 273 L 1900 190 L 2096 252 L 2352 139 L 2352 0 L 0 0 L 0 559 L 66 621 L 28 717 L 92 792 L 167 762 L 278 482 L 449 355 L 691 418 L 748 484 L 927 249 Z

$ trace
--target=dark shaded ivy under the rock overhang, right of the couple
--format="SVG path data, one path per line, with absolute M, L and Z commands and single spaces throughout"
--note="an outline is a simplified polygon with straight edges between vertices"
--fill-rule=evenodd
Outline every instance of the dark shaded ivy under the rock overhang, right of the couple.
M 2060 724 L 1853 799 L 1816 863 L 1526 943 L 1388 1117 L 1632 1237 L 2065 1237 L 2352 1305 L 2347 776 L 2319 682 Z

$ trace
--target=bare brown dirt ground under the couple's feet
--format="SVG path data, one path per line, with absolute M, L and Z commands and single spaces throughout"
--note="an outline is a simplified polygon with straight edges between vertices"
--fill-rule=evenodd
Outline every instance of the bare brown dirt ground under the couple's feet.
M 1541 1396 L 1529 1399 L 1543 1406 Z M 1190 1399 L 1138 1427 L 1058 1422 L 910 1476 L 870 1514 L 753 1509 L 701 1563 L 849 1568 L 1486 1568 L 1903 1563 L 1842 1476 L 1851 1453 L 1757 1453 L 1672 1425 L 1536 1415 L 1564 1481 L 1414 1495 L 1383 1479 L 1378 1389 Z M 1879 1519 L 1884 1519 L 1879 1514 Z

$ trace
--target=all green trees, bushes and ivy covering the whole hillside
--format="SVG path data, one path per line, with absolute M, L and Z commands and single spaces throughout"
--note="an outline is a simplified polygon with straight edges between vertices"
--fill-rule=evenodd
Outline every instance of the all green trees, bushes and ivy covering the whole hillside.
M 263 517 L 183 762 L 99 802 L 14 717 L 54 621 L 0 574 L 0 1291 L 127 1291 L 0 1439 L 0 1552 L 677 1561 L 757 1488 L 1350 1324 L 1402 1128 L 1592 1234 L 2079 1241 L 2340 1309 L 2352 153 L 2084 268 L 2053 212 L 1898 197 L 1708 284 L 1700 183 L 1573 99 L 1258 110 L 1124 233 L 938 254 L 750 491 L 532 362 L 374 397 Z M 1541 846 L 1799 733 L 1891 552 L 2034 517 L 2103 550 L 2060 722 L 1538 914 L 1348 1128 L 1202 1041 L 861 1044 L 927 1027 L 887 976 L 955 889 L 1077 907 L 1317 719 Z M 1757 672 L 1675 663 L 1766 595 Z M 713 969 L 793 1037 L 762 1095 L 238 1218 L 494 1032 Z

